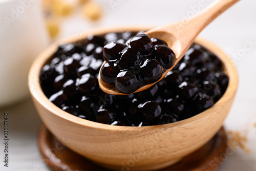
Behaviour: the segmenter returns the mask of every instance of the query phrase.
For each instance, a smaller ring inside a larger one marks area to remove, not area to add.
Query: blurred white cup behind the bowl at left
[[[28,71],[49,44],[41,1],[0,0],[0,107],[29,95]]]

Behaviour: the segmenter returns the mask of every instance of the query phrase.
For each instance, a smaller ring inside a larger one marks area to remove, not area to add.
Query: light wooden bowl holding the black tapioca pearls
[[[223,62],[229,76],[224,95],[208,110],[175,123],[156,126],[114,126],[97,123],[62,111],[48,100],[39,83],[41,68],[62,42],[77,42],[89,34],[148,30],[148,27],[108,28],[60,40],[42,52],[29,73],[29,89],[39,116],[48,130],[64,145],[102,167],[119,170],[156,170],[172,165],[196,151],[221,128],[236,94],[238,75],[232,61],[211,42],[195,42]]]

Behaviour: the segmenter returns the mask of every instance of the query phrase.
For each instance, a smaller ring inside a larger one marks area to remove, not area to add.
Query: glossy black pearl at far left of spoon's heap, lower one
[[[116,63],[106,62],[100,70],[100,78],[105,83],[115,83],[116,75],[119,73],[119,67]]]

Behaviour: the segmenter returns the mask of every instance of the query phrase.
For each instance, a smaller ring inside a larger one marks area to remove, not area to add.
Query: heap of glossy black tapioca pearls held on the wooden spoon
[[[106,63],[100,71],[101,81],[126,94],[158,81],[176,61],[165,41],[147,34],[138,34],[125,44],[109,42],[103,48],[103,57]]]

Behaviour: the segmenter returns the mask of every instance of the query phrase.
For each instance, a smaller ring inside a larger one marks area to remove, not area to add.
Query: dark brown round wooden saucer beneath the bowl
[[[45,127],[41,125],[38,133],[38,144],[42,159],[54,171],[105,171],[108,169],[92,164],[82,156],[63,146]],[[227,137],[224,128],[198,151],[186,156],[183,160],[159,171],[214,171],[221,164],[222,155],[227,149]],[[218,160],[216,160],[218,159]]]

